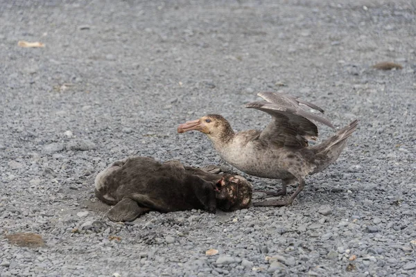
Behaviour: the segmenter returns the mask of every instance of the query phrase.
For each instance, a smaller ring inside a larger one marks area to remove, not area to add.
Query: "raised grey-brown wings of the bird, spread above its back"
[[[263,92],[258,95],[268,102],[251,102],[245,107],[259,109],[272,116],[272,122],[259,136],[262,141],[272,142],[280,147],[304,148],[308,145],[308,140],[315,141],[318,137],[318,127],[311,120],[335,129],[326,118],[300,107],[306,105],[323,113],[323,109],[316,105],[281,93]]]

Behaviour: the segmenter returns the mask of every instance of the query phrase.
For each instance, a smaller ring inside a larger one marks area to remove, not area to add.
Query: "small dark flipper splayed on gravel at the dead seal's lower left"
[[[150,208],[140,207],[130,198],[123,198],[108,212],[108,219],[114,222],[133,221],[140,215],[150,211]]]

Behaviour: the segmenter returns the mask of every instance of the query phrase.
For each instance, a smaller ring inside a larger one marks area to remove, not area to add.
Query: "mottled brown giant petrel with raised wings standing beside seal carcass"
[[[304,100],[280,93],[259,93],[259,96],[267,102],[252,102],[246,107],[260,109],[273,117],[263,131],[235,133],[223,116],[208,115],[180,125],[178,132],[191,129],[204,132],[227,163],[249,175],[283,180],[281,192],[270,193],[272,195],[285,195],[286,185],[298,181],[300,186],[287,201],[266,200],[257,206],[291,204],[303,189],[307,175],[324,170],[338,159],[345,148],[346,139],[356,129],[358,120],[319,145],[309,147],[308,140],[315,140],[318,136],[318,128],[311,120],[333,126],[329,120],[311,114],[299,105],[321,112],[323,110]]]

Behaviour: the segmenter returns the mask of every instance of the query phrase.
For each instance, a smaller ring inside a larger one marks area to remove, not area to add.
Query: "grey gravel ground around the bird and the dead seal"
[[[0,276],[415,276],[415,7],[2,1]],[[383,61],[404,68],[371,68]],[[177,125],[219,113],[263,127],[267,114],[242,107],[266,90],[314,102],[337,127],[361,120],[292,206],[107,220],[97,172],[133,155],[222,163]],[[20,232],[46,246],[5,237]]]

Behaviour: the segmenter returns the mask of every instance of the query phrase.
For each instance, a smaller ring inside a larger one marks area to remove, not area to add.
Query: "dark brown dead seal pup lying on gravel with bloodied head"
[[[235,174],[218,175],[183,166],[180,161],[159,163],[151,157],[115,161],[95,179],[95,194],[114,205],[107,216],[114,222],[133,221],[148,211],[162,213],[216,208],[235,211],[251,204],[252,185]]]

